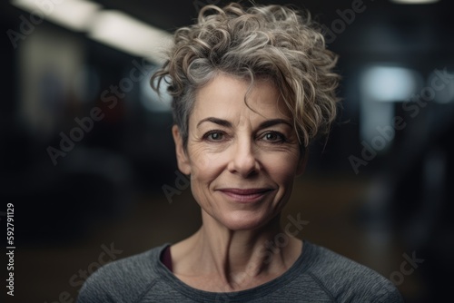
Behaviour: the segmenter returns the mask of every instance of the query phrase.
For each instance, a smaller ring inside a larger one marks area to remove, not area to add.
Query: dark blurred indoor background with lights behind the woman
[[[176,28],[228,2],[2,2],[0,220],[6,230],[14,203],[16,248],[7,302],[72,302],[105,262],[198,229],[171,99],[149,76]],[[407,302],[450,298],[452,1],[256,2],[309,9],[343,78],[338,122],[312,145],[282,220],[309,221],[298,237],[379,271]]]

